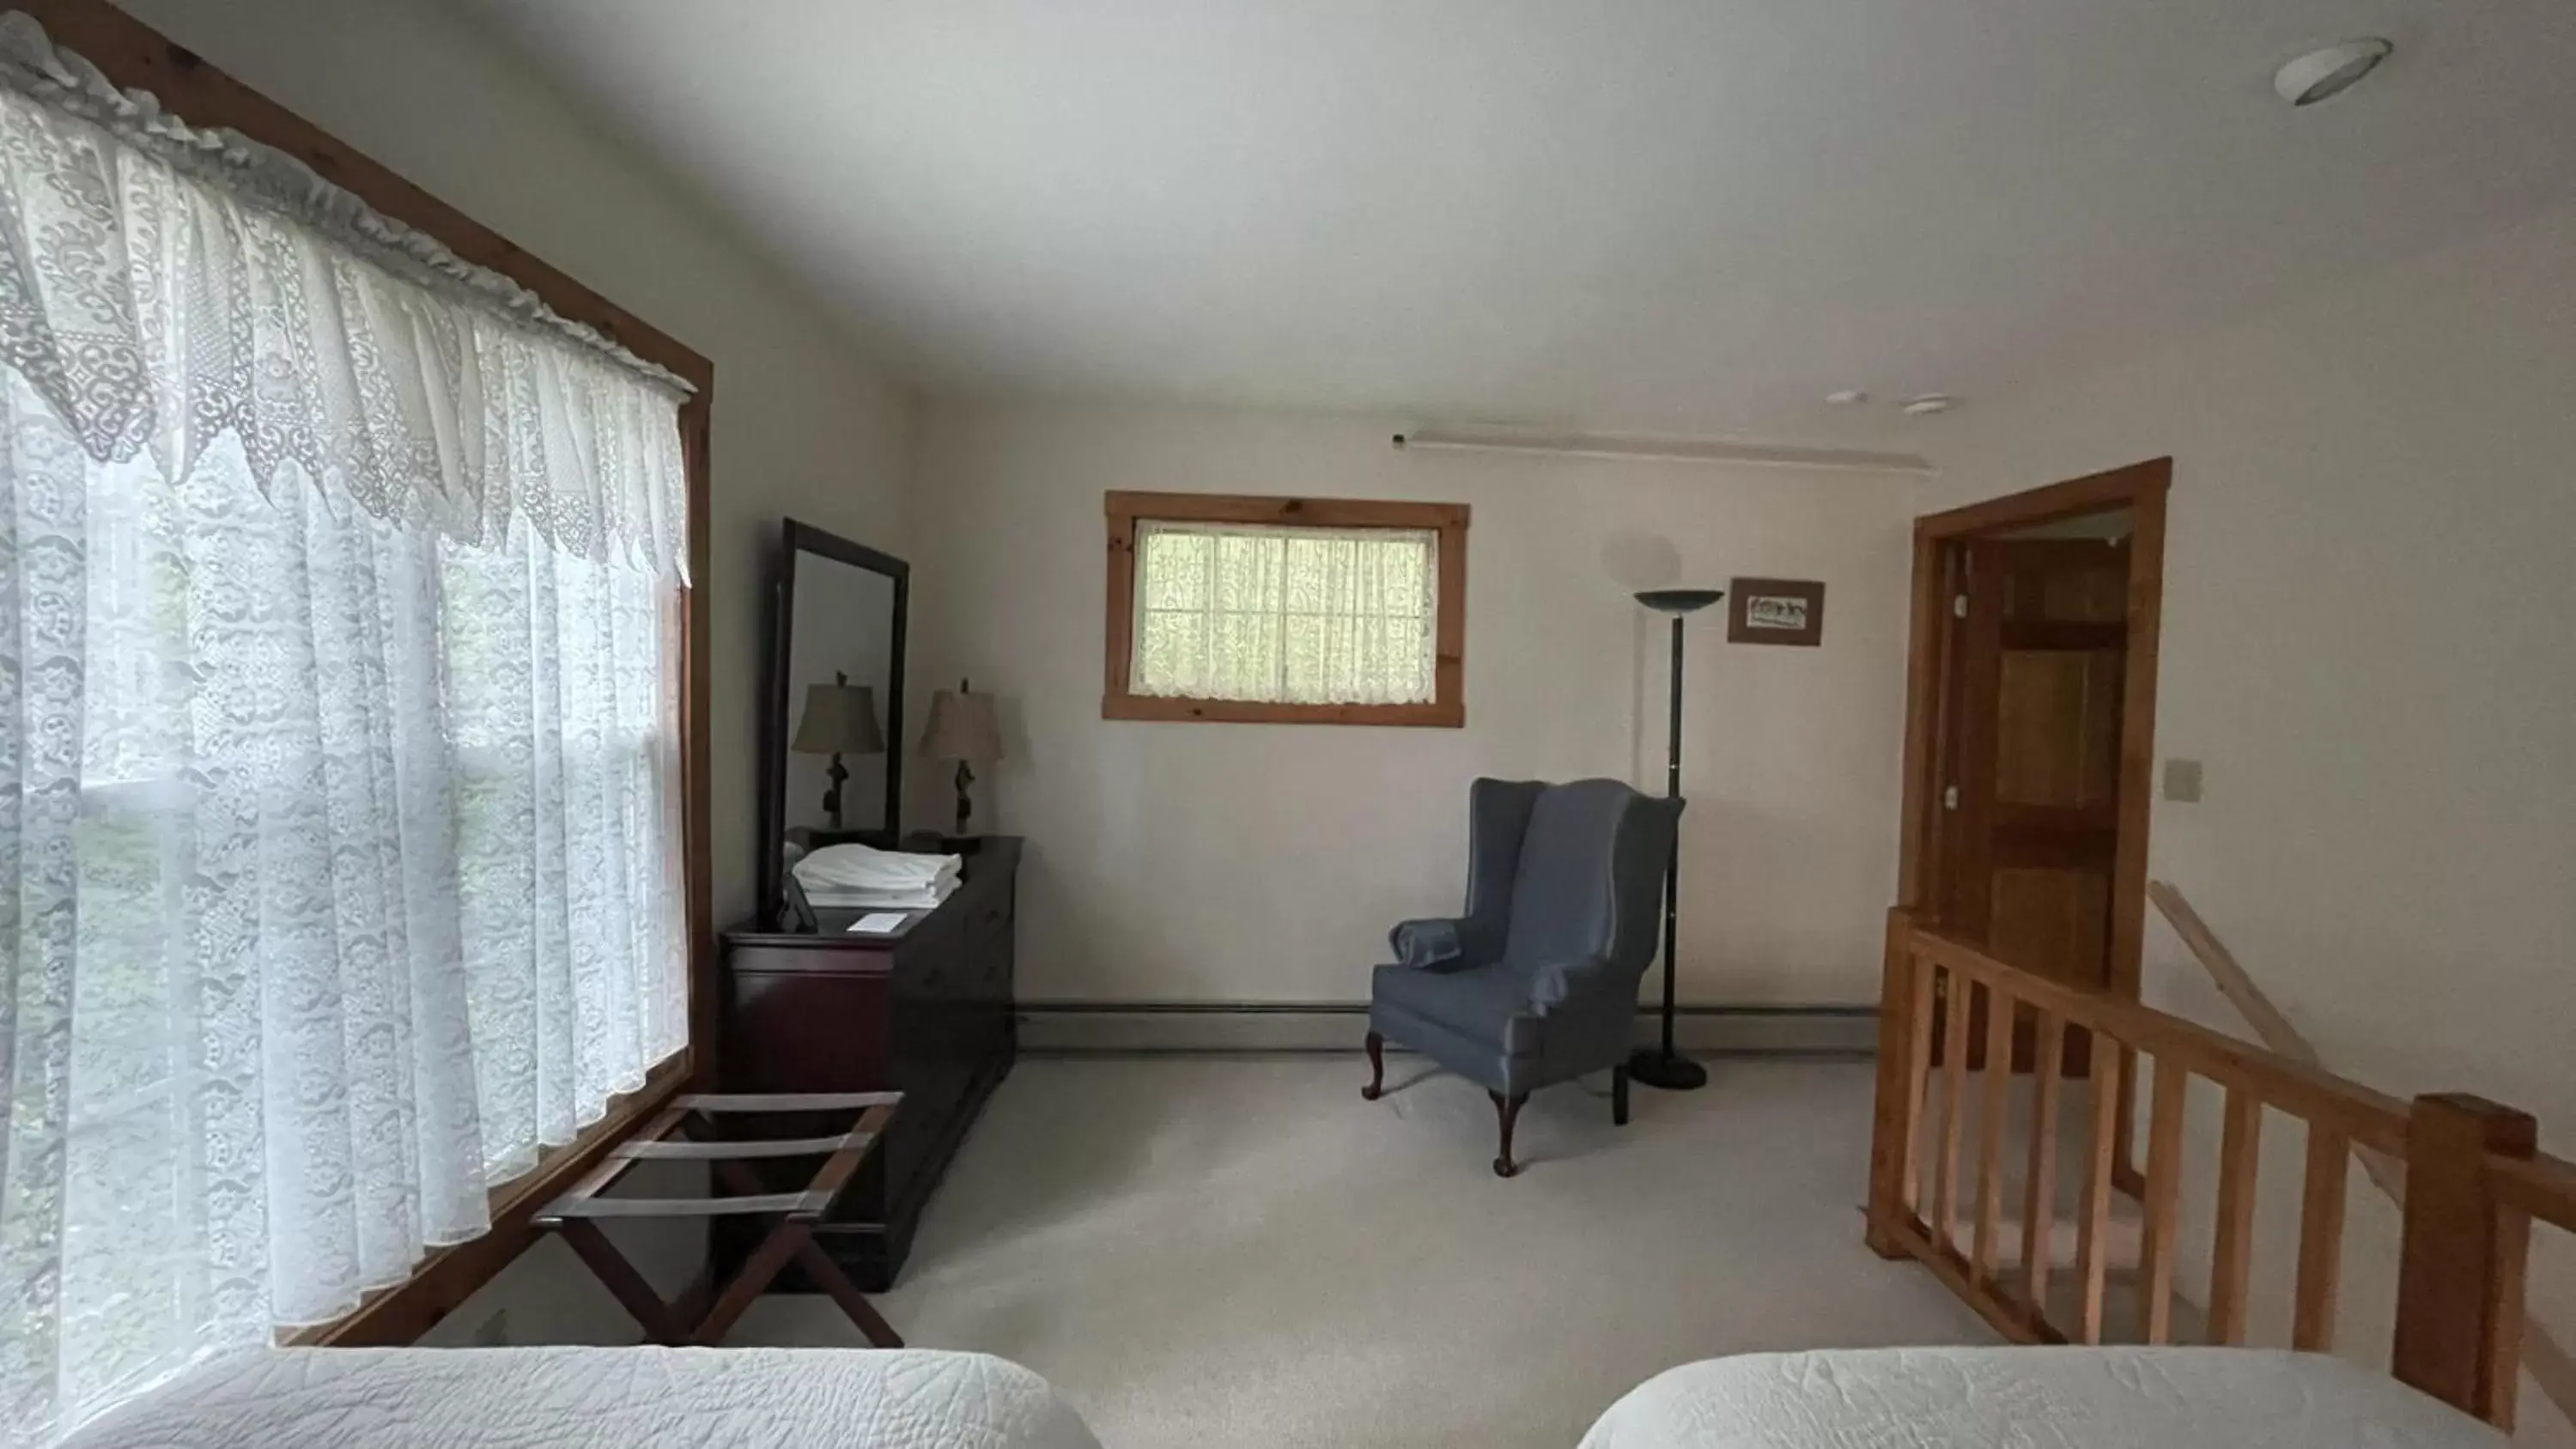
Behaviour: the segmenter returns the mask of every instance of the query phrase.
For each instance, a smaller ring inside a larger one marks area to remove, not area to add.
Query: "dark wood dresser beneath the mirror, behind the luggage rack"
[[[860,911],[817,911],[819,934],[724,932],[726,1091],[904,1094],[886,1140],[814,1233],[868,1292],[904,1269],[948,1161],[1010,1073],[1018,870],[1018,836],[981,836],[956,893],[902,932],[850,934]],[[811,1176],[811,1163],[781,1171]],[[716,1256],[750,1251],[757,1235],[716,1220]]]

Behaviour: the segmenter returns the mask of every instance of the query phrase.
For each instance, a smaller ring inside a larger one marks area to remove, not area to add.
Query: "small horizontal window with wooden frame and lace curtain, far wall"
[[[1113,721],[1461,726],[1463,504],[1108,494]]]

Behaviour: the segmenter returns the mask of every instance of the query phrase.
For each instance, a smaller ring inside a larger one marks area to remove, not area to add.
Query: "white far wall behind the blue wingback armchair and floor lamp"
[[[1628,595],[1826,582],[1821,649],[1692,620],[1685,1001],[1875,1001],[1896,880],[1914,481],[1396,453],[1381,420],[930,404],[927,679],[1002,700],[992,829],[1025,834],[1020,991],[1355,1001],[1386,929],[1450,914],[1476,775],[1664,785],[1662,618]],[[1100,718],[1108,489],[1471,504],[1466,728]],[[948,795],[909,785],[917,818]]]

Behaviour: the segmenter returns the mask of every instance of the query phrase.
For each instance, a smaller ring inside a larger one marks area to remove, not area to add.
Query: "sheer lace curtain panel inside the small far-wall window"
[[[1440,535],[1136,525],[1128,690],[1288,705],[1430,703]]]

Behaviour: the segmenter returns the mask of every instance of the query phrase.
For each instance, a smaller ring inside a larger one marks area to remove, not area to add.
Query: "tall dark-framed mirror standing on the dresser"
[[[912,566],[786,520],[770,582],[760,731],[760,924],[811,929],[788,867],[827,844],[891,847],[904,824],[904,613]]]

